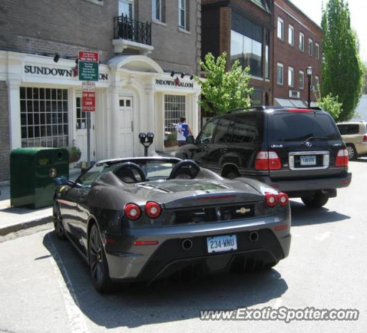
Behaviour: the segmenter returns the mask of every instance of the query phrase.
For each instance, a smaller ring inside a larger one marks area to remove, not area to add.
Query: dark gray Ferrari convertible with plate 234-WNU
[[[173,273],[269,268],[287,257],[287,194],[229,180],[191,160],[98,162],[76,181],[56,178],[53,216],[89,264],[98,291]]]

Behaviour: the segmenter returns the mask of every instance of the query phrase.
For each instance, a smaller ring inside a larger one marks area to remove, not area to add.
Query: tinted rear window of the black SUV
[[[327,137],[341,139],[334,122],[326,114],[274,113],[269,120],[269,139],[271,142],[305,141],[308,137]]]

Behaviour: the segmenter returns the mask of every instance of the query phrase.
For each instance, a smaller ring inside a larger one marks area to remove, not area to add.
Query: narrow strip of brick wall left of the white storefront
[[[0,81],[0,181],[9,178],[10,129],[8,114],[8,87]]]

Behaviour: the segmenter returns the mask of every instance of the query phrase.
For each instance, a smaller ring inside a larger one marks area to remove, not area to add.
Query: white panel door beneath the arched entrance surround
[[[117,157],[133,157],[133,97],[119,97],[119,117],[117,121],[119,139],[117,141]]]

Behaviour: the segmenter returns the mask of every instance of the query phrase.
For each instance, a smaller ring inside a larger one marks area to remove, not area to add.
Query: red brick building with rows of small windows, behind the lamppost
[[[308,99],[307,67],[313,67],[311,89],[316,89],[321,83],[321,27],[289,0],[274,0],[273,19],[271,80],[274,104],[305,107]],[[311,101],[316,101],[313,92]]]

